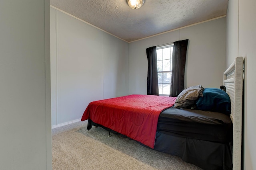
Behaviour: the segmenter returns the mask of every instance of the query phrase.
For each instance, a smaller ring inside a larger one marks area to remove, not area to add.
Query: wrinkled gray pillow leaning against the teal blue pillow
[[[198,97],[203,96],[203,90],[201,85],[185,88],[177,96],[174,107],[183,108],[196,104]]]

